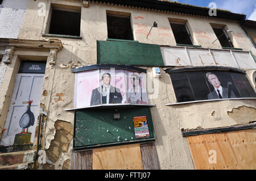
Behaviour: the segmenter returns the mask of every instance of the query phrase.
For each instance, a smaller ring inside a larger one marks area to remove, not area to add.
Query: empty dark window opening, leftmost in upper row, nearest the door
[[[50,34],[80,36],[81,11],[52,9]]]

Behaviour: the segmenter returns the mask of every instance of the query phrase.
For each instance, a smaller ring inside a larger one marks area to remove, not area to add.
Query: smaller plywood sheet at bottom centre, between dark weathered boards
[[[139,144],[93,150],[93,170],[142,170]]]

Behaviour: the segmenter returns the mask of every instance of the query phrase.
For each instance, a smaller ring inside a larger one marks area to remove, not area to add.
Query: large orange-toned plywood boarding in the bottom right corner
[[[256,129],[190,136],[187,140],[196,169],[256,169]]]

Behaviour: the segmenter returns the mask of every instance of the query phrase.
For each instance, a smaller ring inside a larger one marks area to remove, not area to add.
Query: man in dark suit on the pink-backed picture
[[[110,85],[111,75],[104,73],[101,77],[102,86],[92,91],[90,106],[101,104],[118,104],[122,103],[122,95],[118,88]],[[100,93],[101,92],[101,93]]]

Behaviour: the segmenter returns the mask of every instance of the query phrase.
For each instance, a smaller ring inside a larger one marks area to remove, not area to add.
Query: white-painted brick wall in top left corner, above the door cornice
[[[29,0],[3,0],[0,7],[0,38],[16,39]]]

